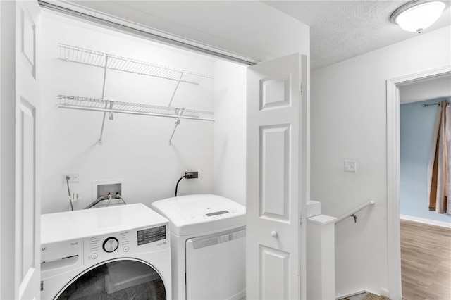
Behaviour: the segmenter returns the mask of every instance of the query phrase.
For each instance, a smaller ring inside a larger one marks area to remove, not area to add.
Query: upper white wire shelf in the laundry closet
[[[147,63],[145,61],[137,61],[132,58],[84,49],[78,46],[58,44],[58,47],[59,59],[63,61],[71,61],[74,63],[82,63],[100,68],[159,77],[178,82],[187,82],[193,85],[198,85],[203,80],[214,78],[212,75],[195,73],[177,68],[169,68],[163,65]]]

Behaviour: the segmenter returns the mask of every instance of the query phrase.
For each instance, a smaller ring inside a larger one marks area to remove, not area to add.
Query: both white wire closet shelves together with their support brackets
[[[132,115],[152,115],[157,117],[175,118],[175,127],[169,139],[169,145],[180,124],[180,119],[205,120],[214,121],[214,113],[210,111],[199,111],[188,108],[178,108],[171,106],[172,101],[177,92],[180,82],[186,82],[198,85],[206,79],[213,79],[212,75],[194,73],[187,70],[165,67],[154,63],[146,63],[137,61],[132,58],[125,58],[106,54],[99,51],[84,49],[78,46],[70,46],[66,44],[58,44],[59,59],[84,65],[91,65],[104,69],[103,85],[101,98],[88,98],[82,96],[59,95],[58,108],[70,108],[82,111],[100,111],[104,113],[102,120],[99,144],[102,144],[102,136],[104,132],[106,113],[109,114],[109,120],[113,120],[115,113],[126,113]],[[118,70],[122,72],[134,73],[139,75],[147,75],[159,77],[177,82],[168,106],[156,106],[151,104],[137,104],[131,102],[111,101],[104,99],[106,70]]]

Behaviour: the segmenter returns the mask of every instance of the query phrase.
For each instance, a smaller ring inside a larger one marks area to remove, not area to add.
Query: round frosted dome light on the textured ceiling
[[[414,0],[407,2],[390,15],[390,21],[400,25],[403,30],[418,32],[440,18],[447,6],[445,1],[440,0]]]

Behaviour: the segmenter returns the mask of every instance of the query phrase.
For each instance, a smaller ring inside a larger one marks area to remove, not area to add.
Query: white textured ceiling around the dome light
[[[406,2],[409,1],[264,1],[310,26],[312,69],[418,35],[390,23],[391,13]],[[448,25],[451,25],[450,6],[422,34]]]

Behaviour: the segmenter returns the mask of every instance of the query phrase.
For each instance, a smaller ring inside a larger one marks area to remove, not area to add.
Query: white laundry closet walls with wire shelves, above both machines
[[[74,210],[116,183],[128,203],[150,205],[173,196],[185,171],[199,177],[178,195],[214,193],[215,151],[233,147],[244,201],[245,65],[47,11],[41,37],[42,213],[71,209],[65,175],[76,175]],[[215,130],[217,113],[242,127],[235,142]]]

